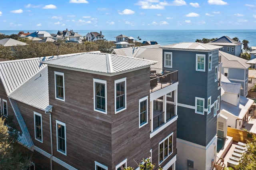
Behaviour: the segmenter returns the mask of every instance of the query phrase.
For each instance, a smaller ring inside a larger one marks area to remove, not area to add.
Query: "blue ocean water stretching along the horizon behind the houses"
[[[11,35],[18,34],[18,32],[35,32],[39,30],[0,30],[2,34]],[[46,31],[50,34],[57,34],[58,30],[40,30]],[[160,45],[169,45],[179,42],[195,42],[196,39],[203,38],[220,38],[228,36],[230,38],[238,37],[242,42],[248,40],[249,47],[256,46],[256,30],[74,30],[82,36],[86,36],[88,32],[98,32],[105,36],[108,41],[115,41],[116,36],[123,34],[125,36],[133,37],[138,42],[156,41]],[[138,40],[140,37],[141,40]]]

